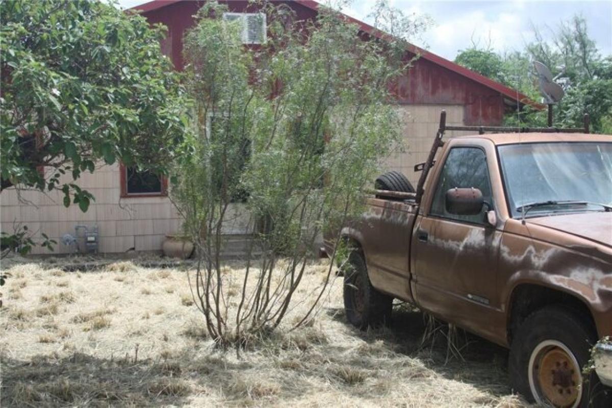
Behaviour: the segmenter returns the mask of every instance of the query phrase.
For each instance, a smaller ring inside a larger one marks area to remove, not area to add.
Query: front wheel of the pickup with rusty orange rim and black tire
[[[573,308],[552,305],[535,311],[520,325],[510,347],[508,371],[513,389],[539,404],[610,407],[610,390],[606,391],[597,374],[592,372],[587,378],[581,374],[596,341],[588,316]],[[573,369],[575,365],[578,370]]]

